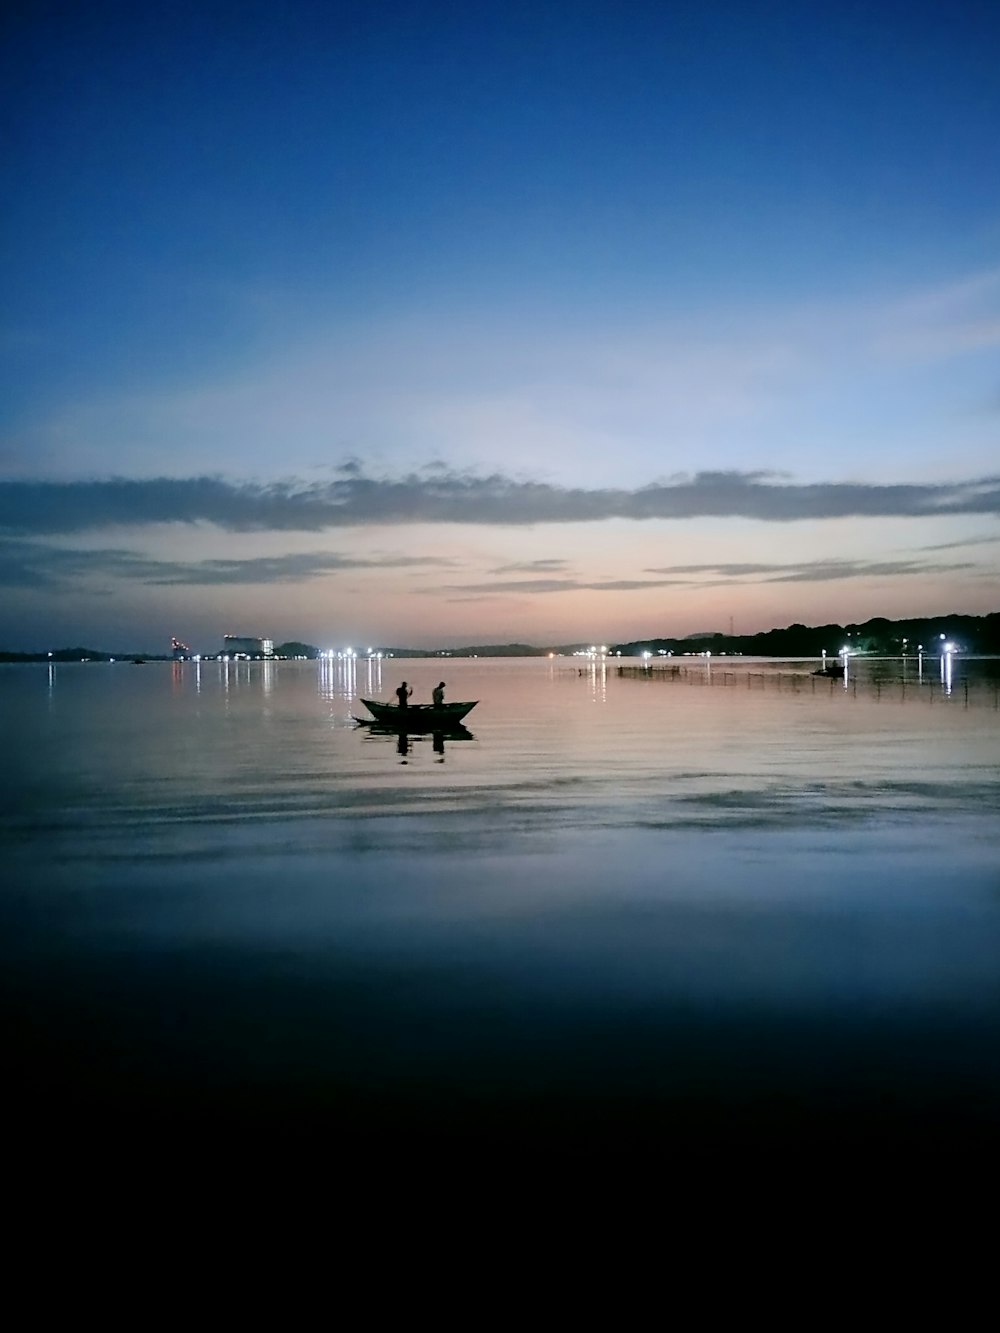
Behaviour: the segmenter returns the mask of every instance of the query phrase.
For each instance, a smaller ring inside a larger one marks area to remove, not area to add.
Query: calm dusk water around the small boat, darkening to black
[[[987,1141],[999,664],[812,665],[3,668],[13,1105],[380,1150]],[[479,700],[471,736],[359,728],[403,674]]]

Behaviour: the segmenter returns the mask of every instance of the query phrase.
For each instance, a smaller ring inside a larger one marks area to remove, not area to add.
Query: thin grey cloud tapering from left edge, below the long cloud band
[[[301,583],[357,569],[453,568],[436,556],[372,556],[356,559],[311,551],[247,560],[155,560],[131,551],[64,551],[23,539],[0,539],[0,585],[53,588],[76,579],[127,579],[151,585]]]

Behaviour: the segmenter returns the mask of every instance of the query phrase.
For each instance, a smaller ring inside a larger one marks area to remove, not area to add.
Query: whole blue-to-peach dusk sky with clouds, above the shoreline
[[[1000,611],[995,3],[0,21],[0,649]]]

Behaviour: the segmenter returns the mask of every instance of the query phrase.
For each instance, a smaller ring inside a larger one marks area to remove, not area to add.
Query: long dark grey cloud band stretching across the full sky
[[[0,531],[23,535],[172,523],[207,523],[229,532],[323,532],[404,524],[521,527],[699,517],[793,523],[944,515],[1000,515],[1000,476],[920,485],[797,485],[763,472],[699,472],[635,489],[585,489],[447,469],[368,476],[352,465],[321,483],[221,477],[0,483]]]

